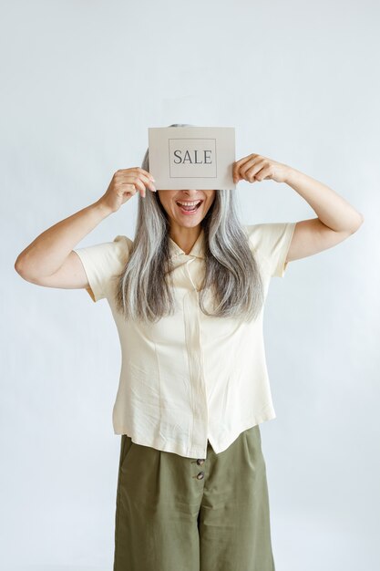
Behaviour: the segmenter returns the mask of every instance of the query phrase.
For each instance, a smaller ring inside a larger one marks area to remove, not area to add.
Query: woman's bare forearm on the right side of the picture
[[[285,181],[310,204],[318,218],[336,232],[355,231],[363,223],[363,215],[342,196],[322,182],[289,167]]]

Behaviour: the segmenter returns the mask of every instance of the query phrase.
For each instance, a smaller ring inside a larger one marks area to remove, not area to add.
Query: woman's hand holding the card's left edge
[[[146,188],[156,192],[153,177],[141,167],[119,169],[115,172],[105,194],[98,200],[111,213],[116,213],[136,192],[145,197]]]

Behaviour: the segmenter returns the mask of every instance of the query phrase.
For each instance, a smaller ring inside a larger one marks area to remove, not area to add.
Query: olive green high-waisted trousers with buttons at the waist
[[[121,436],[114,571],[274,571],[259,425],[186,458]]]

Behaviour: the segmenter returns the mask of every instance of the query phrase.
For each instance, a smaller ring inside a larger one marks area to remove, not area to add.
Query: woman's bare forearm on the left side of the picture
[[[75,246],[110,213],[103,203],[94,202],[54,224],[17,256],[15,270],[20,275],[53,275]]]

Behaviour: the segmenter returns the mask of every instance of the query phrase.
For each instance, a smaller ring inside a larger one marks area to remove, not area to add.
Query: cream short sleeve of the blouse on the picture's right
[[[283,277],[296,222],[245,226],[253,252],[259,254],[271,276]]]

